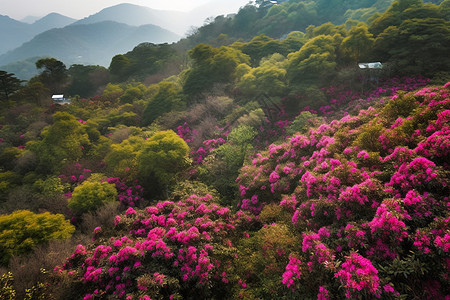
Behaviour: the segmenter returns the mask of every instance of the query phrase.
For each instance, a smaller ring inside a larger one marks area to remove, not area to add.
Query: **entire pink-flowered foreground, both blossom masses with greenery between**
[[[85,299],[445,299],[450,83],[387,100],[256,154],[236,213],[129,208],[60,273]]]

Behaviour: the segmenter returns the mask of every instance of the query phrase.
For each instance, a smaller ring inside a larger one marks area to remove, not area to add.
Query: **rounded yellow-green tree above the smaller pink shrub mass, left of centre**
[[[167,197],[175,176],[190,165],[188,154],[189,146],[175,132],[158,131],[138,155],[140,182],[149,187],[152,186],[151,181],[155,180],[163,196]]]

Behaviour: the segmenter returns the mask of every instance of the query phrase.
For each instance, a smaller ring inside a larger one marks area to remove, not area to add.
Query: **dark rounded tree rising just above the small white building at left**
[[[66,65],[56,58],[41,58],[36,61],[36,68],[42,69],[37,76],[52,93],[62,93],[68,83]]]

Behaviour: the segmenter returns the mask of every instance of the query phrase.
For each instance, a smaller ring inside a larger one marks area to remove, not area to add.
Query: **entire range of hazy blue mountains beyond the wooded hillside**
[[[116,54],[142,42],[175,42],[206,18],[237,12],[241,4],[242,0],[211,0],[190,12],[178,12],[124,3],[81,20],[51,13],[32,24],[0,15],[0,69],[13,72],[21,61],[29,65],[32,57],[55,57],[67,66],[109,66]]]

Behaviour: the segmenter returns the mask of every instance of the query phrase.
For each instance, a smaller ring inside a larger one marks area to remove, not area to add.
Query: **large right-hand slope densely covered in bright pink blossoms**
[[[311,129],[255,155],[239,203],[292,212],[298,296],[449,295],[450,83]]]

